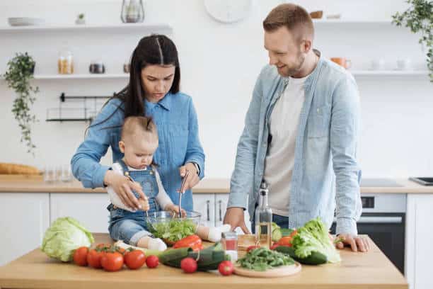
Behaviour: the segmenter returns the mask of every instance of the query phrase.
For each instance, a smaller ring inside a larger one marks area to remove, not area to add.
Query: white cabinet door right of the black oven
[[[432,194],[408,194],[405,275],[411,289],[433,288],[432,208]]]

